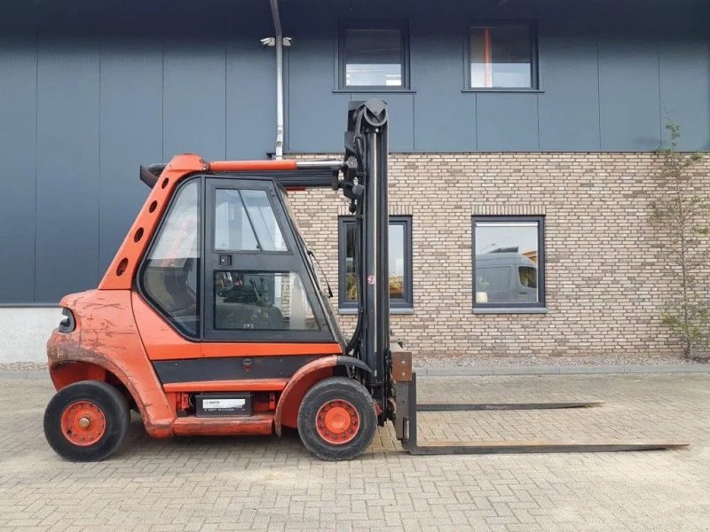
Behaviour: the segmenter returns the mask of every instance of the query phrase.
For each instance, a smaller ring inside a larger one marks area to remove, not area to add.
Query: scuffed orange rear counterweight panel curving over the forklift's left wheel
[[[79,373],[71,375],[73,363],[105,368],[136,401],[146,431],[156,437],[169,436],[175,410],[146,356],[130,311],[130,292],[90,290],[69,295],[60,304],[72,309],[76,328],[68,334],[55,330],[47,342],[54,386],[59,390],[86,378],[84,364],[76,364]]]

